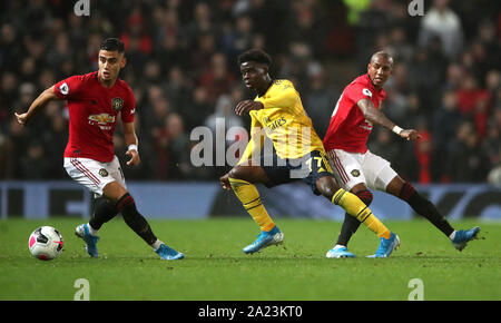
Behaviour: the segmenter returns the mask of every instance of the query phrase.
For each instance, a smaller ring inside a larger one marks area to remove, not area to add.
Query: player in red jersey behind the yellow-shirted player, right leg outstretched
[[[418,214],[428,218],[448,236],[459,251],[473,239],[480,228],[454,231],[436,207],[421,196],[414,187],[402,179],[390,163],[367,150],[366,143],[373,125],[383,126],[407,140],[418,140],[421,135],[414,129],[402,129],[380,110],[385,98],[383,85],[392,75],[393,58],[384,51],[375,52],[367,65],[367,74],[357,77],[344,88],[331,117],[324,137],[324,147],[333,163],[340,185],[370,205],[379,189],[405,200]],[[351,236],[360,226],[358,221],[345,216],[336,245],[327,257],[354,257],[347,251]]]

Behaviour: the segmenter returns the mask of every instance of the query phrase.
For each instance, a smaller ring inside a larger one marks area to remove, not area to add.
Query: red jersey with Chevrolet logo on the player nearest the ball
[[[65,157],[111,161],[118,114],[122,123],[134,121],[136,102],[127,82],[117,79],[108,89],[98,78],[95,71],[69,77],[55,86],[56,95],[68,101],[69,139]]]

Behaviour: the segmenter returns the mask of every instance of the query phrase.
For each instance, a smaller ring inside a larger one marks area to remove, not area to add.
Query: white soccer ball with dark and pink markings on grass
[[[62,236],[51,226],[41,226],[33,231],[28,239],[30,253],[42,261],[57,258],[62,252]]]

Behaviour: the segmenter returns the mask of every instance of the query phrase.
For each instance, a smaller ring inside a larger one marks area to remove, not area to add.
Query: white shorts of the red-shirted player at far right
[[[361,154],[332,149],[327,155],[337,183],[346,190],[361,183],[372,189],[386,190],[390,182],[397,176],[390,161],[369,150]]]

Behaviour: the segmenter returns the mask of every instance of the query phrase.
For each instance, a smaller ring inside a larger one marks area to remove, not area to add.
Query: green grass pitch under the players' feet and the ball
[[[183,261],[160,261],[121,218],[99,232],[99,257],[90,258],[73,235],[79,218],[0,221],[0,300],[73,300],[78,278],[89,282],[92,300],[178,301],[405,301],[422,281],[432,300],[501,300],[501,224],[462,221],[456,228],[480,225],[479,239],[463,252],[426,221],[385,224],[401,237],[401,247],[385,260],[365,255],[377,239],[361,226],[350,249],[357,257],[328,260],[341,223],[276,218],[283,246],[245,255],[242,248],[258,234],[250,218],[203,221],[150,219],[157,236],[183,252]],[[61,256],[33,258],[28,237],[40,225],[58,228]]]

